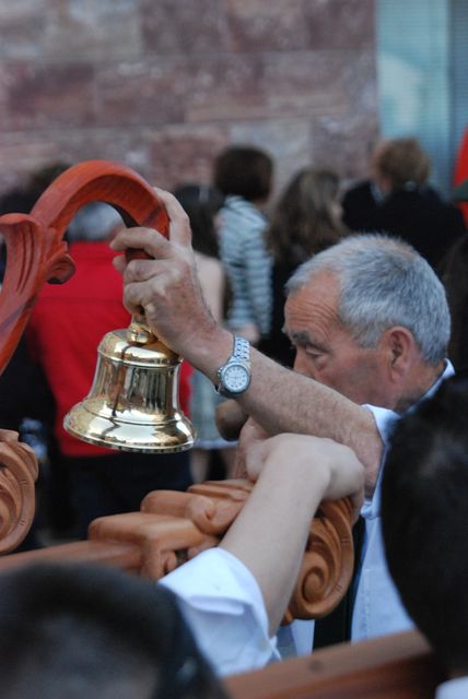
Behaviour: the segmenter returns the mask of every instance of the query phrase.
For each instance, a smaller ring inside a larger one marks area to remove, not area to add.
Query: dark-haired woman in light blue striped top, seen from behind
[[[265,250],[262,206],[272,186],[271,157],[251,146],[232,146],[214,163],[214,186],[224,194],[220,212],[221,260],[231,283],[227,325],[251,343],[270,327],[271,260]]]

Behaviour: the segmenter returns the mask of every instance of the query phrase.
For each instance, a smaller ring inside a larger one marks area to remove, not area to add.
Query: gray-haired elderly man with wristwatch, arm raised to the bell
[[[113,242],[116,250],[144,248],[154,258],[116,260],[127,308],[142,307],[159,336],[269,434],[331,437],[354,450],[365,467],[367,500],[352,639],[408,628],[382,550],[379,475],[398,414],[452,372],[444,359],[449,315],[441,283],[412,248],[383,236],[348,238],[317,254],[289,283],[285,328],[297,354],[292,372],[245,341],[235,339],[233,346],[232,334],[213,321],[197,281],[187,216],[174,198],[157,193],[171,239],[133,228]]]

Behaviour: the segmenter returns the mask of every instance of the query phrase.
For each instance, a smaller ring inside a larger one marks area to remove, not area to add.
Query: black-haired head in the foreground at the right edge
[[[468,377],[397,422],[382,486],[390,574],[448,670],[468,672]]]

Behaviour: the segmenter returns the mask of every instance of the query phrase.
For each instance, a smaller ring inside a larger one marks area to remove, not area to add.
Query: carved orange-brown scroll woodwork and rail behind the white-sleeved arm
[[[3,557],[0,571],[46,559],[92,560],[159,580],[201,550],[217,546],[253,487],[241,479],[207,482],[187,493],[155,490],[144,498],[140,512],[94,520],[87,542]],[[302,570],[283,620],[317,618],[331,612],[351,573],[350,502],[323,503],[311,523]]]

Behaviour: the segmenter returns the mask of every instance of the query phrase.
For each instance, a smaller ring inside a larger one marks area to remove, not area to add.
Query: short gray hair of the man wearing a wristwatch
[[[445,289],[430,264],[408,244],[381,234],[343,238],[304,262],[286,283],[288,295],[319,272],[340,284],[338,313],[362,347],[375,347],[394,325],[410,330],[424,362],[446,356],[451,316]]]

